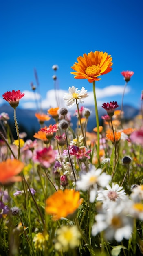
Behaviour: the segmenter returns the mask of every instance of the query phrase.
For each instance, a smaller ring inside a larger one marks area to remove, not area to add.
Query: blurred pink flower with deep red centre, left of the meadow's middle
[[[51,146],[48,148],[44,148],[42,150],[38,150],[36,155],[33,157],[35,162],[39,162],[42,167],[48,168],[55,161],[56,152],[52,149]]]

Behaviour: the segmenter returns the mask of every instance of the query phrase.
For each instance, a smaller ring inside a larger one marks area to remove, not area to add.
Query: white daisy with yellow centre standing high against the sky
[[[63,97],[68,108],[71,108],[74,104],[83,103],[83,99],[88,97],[87,90],[85,90],[84,87],[82,87],[81,90],[78,90],[78,88],[72,86],[69,87],[68,91],[69,93],[65,93]]]

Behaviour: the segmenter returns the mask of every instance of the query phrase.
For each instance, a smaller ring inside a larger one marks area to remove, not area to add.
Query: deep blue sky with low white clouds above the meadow
[[[143,2],[140,0],[6,0],[0,3],[0,104],[2,94],[21,90],[22,108],[34,108],[30,83],[39,77],[43,108],[55,107],[54,74],[57,64],[58,97],[74,85],[88,90],[92,102],[92,83],[74,79],[71,66],[78,56],[103,51],[113,58],[112,71],[96,82],[98,105],[117,101],[121,104],[123,70],[132,70],[124,103],[141,106],[143,90]],[[37,97],[39,95],[37,94]]]

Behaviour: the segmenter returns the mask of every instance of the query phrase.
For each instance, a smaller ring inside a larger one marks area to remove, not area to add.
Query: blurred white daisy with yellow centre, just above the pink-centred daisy
[[[90,202],[94,202],[99,187],[105,187],[111,180],[111,176],[102,173],[102,169],[95,169],[91,166],[88,173],[81,173],[81,179],[77,180],[76,186],[78,190],[86,191],[90,188]]]

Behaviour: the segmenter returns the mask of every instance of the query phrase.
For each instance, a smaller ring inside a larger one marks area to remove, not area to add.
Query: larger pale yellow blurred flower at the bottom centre
[[[81,234],[76,226],[63,226],[57,230],[57,242],[55,243],[56,250],[68,251],[79,246]]]

